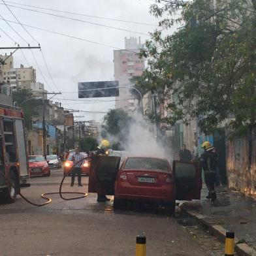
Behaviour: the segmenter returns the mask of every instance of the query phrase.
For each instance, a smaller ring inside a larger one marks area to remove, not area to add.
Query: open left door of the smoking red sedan
[[[106,195],[114,195],[116,175],[121,157],[93,155],[89,169],[88,192],[97,193],[98,187],[104,186]]]

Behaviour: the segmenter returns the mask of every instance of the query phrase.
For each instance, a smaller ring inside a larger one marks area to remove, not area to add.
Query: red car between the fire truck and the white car
[[[50,176],[50,167],[42,155],[29,155],[30,176]]]

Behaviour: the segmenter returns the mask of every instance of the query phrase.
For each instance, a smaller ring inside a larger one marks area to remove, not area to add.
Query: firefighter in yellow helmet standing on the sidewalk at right
[[[210,142],[208,141],[205,141],[202,144],[202,148],[204,148],[204,153],[202,153],[202,155],[200,156],[200,163],[202,169],[204,170],[204,180],[208,188],[208,196],[206,197],[206,199],[211,199],[212,201],[215,201],[217,195],[214,184],[216,182],[217,175],[218,155],[212,144],[210,144]]]

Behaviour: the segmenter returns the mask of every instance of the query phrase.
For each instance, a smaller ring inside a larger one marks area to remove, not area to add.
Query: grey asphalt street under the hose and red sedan
[[[31,187],[22,193],[44,202],[40,195],[57,192],[62,175],[59,169],[52,170],[49,178],[31,178]],[[83,187],[77,180],[70,187],[70,179],[65,180],[64,191],[88,191],[88,177],[82,177]],[[66,201],[53,195],[51,204],[35,207],[18,197],[14,204],[0,204],[0,255],[135,255],[135,238],[142,233],[147,238],[147,256],[223,255],[223,245],[215,238],[198,227],[195,232],[194,227],[181,225],[187,223],[184,217],[147,209],[116,212],[112,200],[98,203],[96,198],[89,194]]]

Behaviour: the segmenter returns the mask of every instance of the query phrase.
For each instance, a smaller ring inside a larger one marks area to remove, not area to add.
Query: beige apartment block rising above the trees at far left
[[[36,82],[36,70],[33,67],[24,67],[10,69],[10,85],[15,89],[31,89],[31,83]]]

